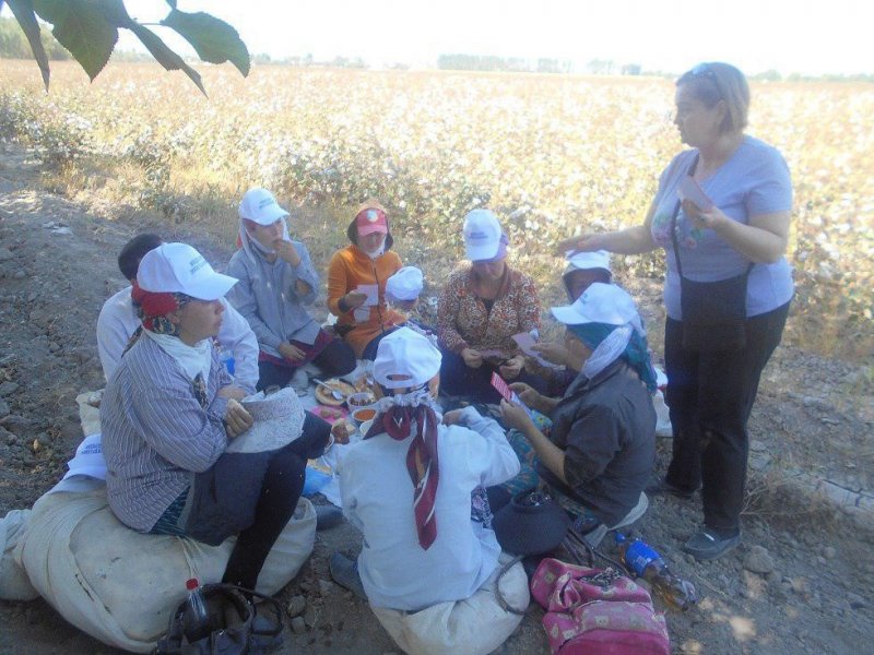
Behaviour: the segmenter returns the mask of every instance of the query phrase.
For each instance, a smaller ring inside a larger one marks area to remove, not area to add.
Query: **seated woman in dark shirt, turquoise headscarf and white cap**
[[[552,431],[543,434],[519,405],[503,402],[501,414],[525,439],[515,443],[523,471],[533,467],[580,520],[580,532],[598,543],[607,528],[646,511],[643,489],[656,456],[656,372],[635,302],[619,287],[594,283],[552,312],[566,326],[565,345],[579,376],[560,398],[511,385],[522,403],[552,418]]]

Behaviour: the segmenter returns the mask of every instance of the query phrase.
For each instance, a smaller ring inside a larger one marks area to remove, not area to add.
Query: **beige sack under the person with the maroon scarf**
[[[499,567],[510,557],[500,556]],[[501,609],[495,596],[498,571],[470,598],[440,603],[416,612],[371,607],[394,642],[410,655],[486,655],[500,646],[522,621]],[[513,608],[528,607],[528,576],[517,562],[501,579],[504,599]]]

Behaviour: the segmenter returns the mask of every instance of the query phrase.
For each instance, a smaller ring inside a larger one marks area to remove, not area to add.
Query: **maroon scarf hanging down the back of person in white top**
[[[416,519],[418,545],[427,550],[437,538],[437,516],[434,503],[437,499],[437,484],[440,479],[437,457],[437,415],[427,405],[416,407],[393,405],[374,420],[365,434],[369,439],[386,432],[395,441],[410,436],[413,422],[416,436],[406,451],[406,471],[413,483],[413,513]]]

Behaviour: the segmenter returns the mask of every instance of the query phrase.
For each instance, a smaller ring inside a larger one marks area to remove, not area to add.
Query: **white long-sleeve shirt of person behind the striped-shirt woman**
[[[107,380],[140,326],[130,294],[129,286],[118,291],[103,303],[97,318],[97,354]],[[222,298],[222,305],[225,311],[218,330],[218,344],[234,355],[234,381],[246,391],[255,392],[258,384],[258,340],[246,319],[227,300]]]

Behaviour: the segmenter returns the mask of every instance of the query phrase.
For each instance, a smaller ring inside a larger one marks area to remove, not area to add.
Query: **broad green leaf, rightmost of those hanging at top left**
[[[249,50],[237,31],[224,21],[203,12],[186,13],[174,9],[161,24],[178,32],[203,61],[229,61],[244,78],[249,74]]]

